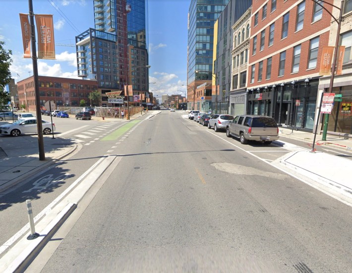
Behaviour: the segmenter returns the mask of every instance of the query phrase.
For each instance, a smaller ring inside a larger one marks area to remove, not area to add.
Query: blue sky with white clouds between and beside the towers
[[[187,13],[190,0],[148,0],[149,82],[153,94],[182,94],[187,81]],[[57,8],[55,8],[56,6]],[[133,8],[133,6],[132,6]],[[23,58],[19,13],[28,13],[28,0],[1,0],[0,41],[12,50],[12,77],[33,75],[32,59]],[[93,0],[33,0],[37,14],[53,14],[56,60],[38,60],[43,76],[77,78],[75,36],[94,28]],[[62,15],[64,14],[64,15]],[[30,73],[29,73],[30,72]]]

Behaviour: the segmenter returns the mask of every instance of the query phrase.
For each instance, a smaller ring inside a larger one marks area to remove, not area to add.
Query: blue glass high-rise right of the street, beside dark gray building
[[[211,81],[213,78],[214,23],[228,2],[229,0],[191,0],[189,5],[187,53],[188,109],[197,108],[194,108],[194,104],[197,103],[195,100],[197,86],[206,81]]]

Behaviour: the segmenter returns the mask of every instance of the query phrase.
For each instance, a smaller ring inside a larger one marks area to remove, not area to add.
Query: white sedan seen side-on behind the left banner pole
[[[55,131],[55,124],[42,120],[43,134],[49,135],[52,128]],[[3,124],[0,126],[1,135],[19,136],[20,134],[36,134],[37,133],[37,118],[20,119],[13,123]]]

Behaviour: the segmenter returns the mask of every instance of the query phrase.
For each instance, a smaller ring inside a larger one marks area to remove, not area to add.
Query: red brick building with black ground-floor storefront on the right
[[[313,129],[322,47],[332,23],[324,8],[313,0],[253,0],[247,113]]]

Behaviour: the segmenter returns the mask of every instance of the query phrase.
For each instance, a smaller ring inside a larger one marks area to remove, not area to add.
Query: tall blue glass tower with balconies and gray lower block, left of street
[[[78,76],[96,79],[105,93],[132,85],[148,92],[148,0],[94,0],[95,27],[76,36]],[[147,97],[147,96],[146,96]]]

